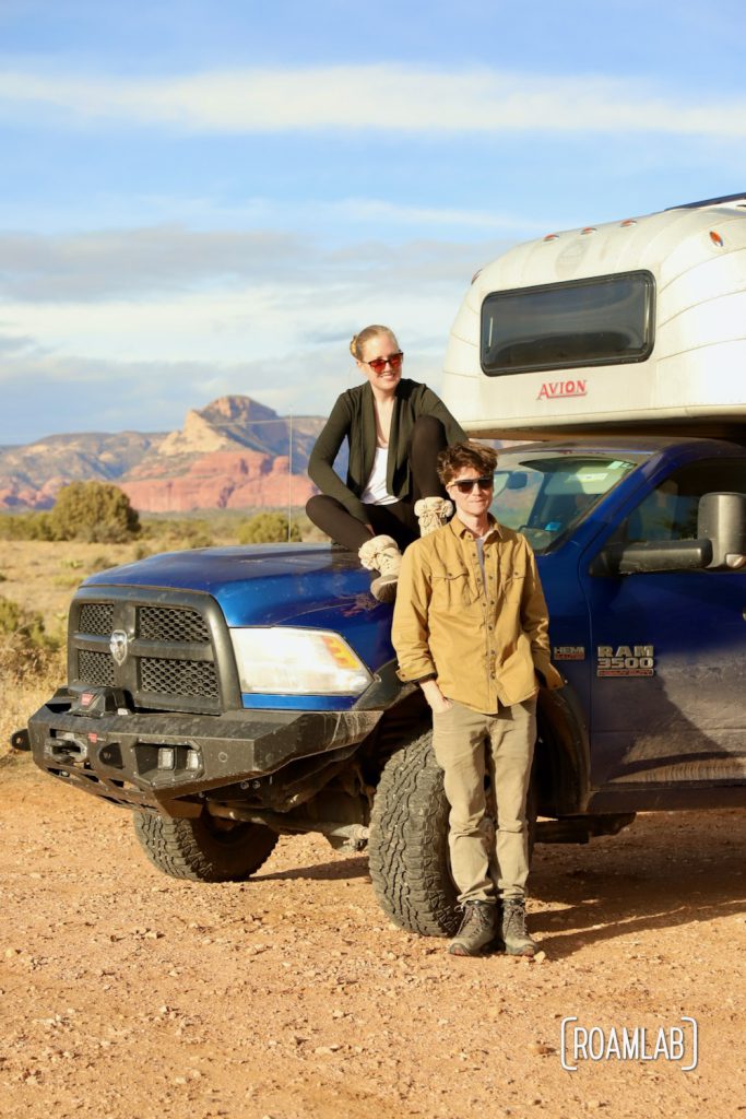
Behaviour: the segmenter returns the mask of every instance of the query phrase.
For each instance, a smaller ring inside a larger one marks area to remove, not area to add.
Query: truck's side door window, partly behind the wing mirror
[[[746,493],[746,459],[711,459],[682,467],[649,493],[622,526],[620,539],[697,539],[697,513],[703,493]]]

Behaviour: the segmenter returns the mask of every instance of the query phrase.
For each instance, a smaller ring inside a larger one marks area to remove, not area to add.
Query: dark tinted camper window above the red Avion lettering
[[[497,377],[644,361],[654,293],[645,271],[492,292],[482,304],[482,369]]]

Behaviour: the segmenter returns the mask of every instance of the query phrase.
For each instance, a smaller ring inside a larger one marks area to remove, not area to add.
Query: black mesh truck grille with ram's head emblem
[[[139,709],[217,714],[240,706],[217,603],[188,591],[168,595],[163,603],[162,591],[83,587],[69,617],[70,687],[120,688]]]

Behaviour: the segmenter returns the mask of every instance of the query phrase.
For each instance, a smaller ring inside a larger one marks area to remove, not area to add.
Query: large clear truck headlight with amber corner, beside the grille
[[[327,630],[232,629],[242,692],[358,695],[372,683],[339,633]]]

